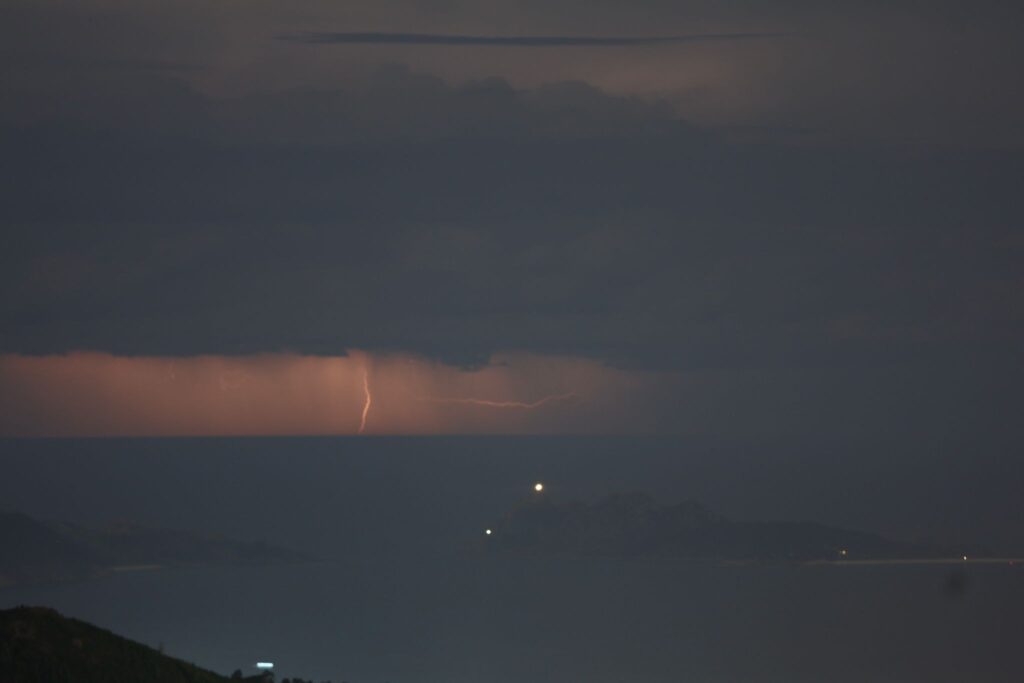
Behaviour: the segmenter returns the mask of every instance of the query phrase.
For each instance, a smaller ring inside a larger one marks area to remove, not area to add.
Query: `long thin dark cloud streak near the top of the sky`
[[[280,40],[310,45],[479,45],[494,47],[644,47],[675,43],[777,38],[772,33],[709,33],[690,36],[457,36],[425,33],[332,33],[303,31]]]

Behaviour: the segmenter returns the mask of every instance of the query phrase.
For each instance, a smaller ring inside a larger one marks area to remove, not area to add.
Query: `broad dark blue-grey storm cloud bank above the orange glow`
[[[400,69],[334,92],[150,90],[153,118],[119,97],[6,137],[7,350],[728,367],[1020,331],[995,302],[1018,283],[1012,155],[738,144],[583,85]]]

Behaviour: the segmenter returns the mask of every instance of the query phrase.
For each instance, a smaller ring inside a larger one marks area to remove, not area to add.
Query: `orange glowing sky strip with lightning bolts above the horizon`
[[[644,377],[501,354],[463,370],[400,354],[0,355],[0,436],[557,434],[642,431]]]

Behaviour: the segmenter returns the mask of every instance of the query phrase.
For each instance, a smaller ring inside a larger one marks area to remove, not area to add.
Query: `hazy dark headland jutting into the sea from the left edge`
[[[263,543],[131,524],[90,528],[0,512],[0,587],[74,581],[132,567],[268,564],[309,558]]]

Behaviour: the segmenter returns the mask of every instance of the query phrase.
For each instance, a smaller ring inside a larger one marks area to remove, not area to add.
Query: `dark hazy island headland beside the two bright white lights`
[[[967,552],[813,522],[736,521],[698,503],[659,505],[644,494],[596,503],[556,503],[538,496],[492,527],[486,543],[543,553],[724,561],[925,559]]]

